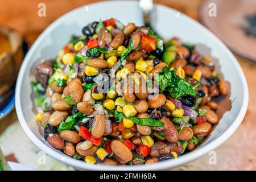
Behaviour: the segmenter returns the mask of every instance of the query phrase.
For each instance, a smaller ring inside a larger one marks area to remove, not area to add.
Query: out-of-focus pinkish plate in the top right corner
[[[215,8],[217,16],[210,16],[209,12],[211,14]],[[238,56],[256,62],[256,36],[247,35],[245,31],[249,26],[248,16],[256,16],[256,1],[207,0],[200,8],[200,21],[205,26]]]

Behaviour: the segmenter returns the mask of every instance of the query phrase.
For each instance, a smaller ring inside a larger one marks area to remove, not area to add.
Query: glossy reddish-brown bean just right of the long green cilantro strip
[[[179,139],[179,133],[177,132],[174,123],[172,123],[168,118],[162,118],[160,121],[164,122],[164,137],[169,142],[177,142]]]

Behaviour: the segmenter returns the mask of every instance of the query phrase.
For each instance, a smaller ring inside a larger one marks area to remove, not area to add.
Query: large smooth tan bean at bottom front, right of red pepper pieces
[[[118,158],[122,159],[125,163],[133,159],[133,154],[131,153],[130,149],[119,140],[112,140],[110,147],[114,154],[117,155]]]

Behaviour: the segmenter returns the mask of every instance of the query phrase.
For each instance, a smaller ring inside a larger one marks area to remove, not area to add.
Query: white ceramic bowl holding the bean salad
[[[213,56],[220,61],[221,72],[232,86],[230,100],[232,109],[224,114],[208,140],[195,151],[180,156],[177,160],[148,164],[144,166],[103,166],[88,165],[81,160],[55,150],[44,140],[35,125],[32,113],[30,76],[41,59],[52,59],[68,42],[72,34],[81,34],[81,29],[93,20],[118,18],[123,23],[135,22],[142,25],[142,15],[137,1],[109,1],[94,3],[75,9],[53,22],[36,40],[25,57],[16,84],[15,105],[20,125],[28,138],[41,150],[53,158],[78,169],[92,170],[155,170],[180,166],[200,158],[220,146],[230,137],[242,122],[248,104],[248,89],[242,69],[229,49],[215,36],[188,16],[162,5],[156,5],[156,31],[163,38],[178,36],[185,42],[204,44],[211,49]],[[29,124],[28,124],[29,123]]]

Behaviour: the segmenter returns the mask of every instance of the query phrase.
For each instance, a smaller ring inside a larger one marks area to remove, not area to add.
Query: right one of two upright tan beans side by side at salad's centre
[[[148,96],[146,80],[139,72],[135,72],[134,76],[136,76],[139,80],[139,85],[134,82],[134,93],[139,99],[145,100]]]

